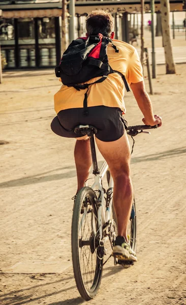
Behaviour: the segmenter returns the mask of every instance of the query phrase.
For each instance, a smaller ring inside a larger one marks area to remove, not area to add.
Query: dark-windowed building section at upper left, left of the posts
[[[59,63],[60,0],[0,0],[0,9],[0,42],[8,69]]]

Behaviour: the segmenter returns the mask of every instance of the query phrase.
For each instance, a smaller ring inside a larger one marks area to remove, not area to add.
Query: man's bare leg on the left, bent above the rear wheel
[[[86,137],[84,140],[78,139],[76,141],[74,157],[77,171],[78,192],[82,187],[84,187],[84,182],[88,179],[92,164],[89,138]]]

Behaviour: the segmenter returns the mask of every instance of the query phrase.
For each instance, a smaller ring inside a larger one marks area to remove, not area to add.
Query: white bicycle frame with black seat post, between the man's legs
[[[92,156],[92,164],[93,164],[93,174],[95,182],[91,186],[93,190],[98,191],[98,225],[99,225],[99,233],[100,233],[100,240],[102,240],[102,226],[106,225],[106,223],[110,220],[110,213],[112,208],[112,198],[109,202],[109,205],[106,206],[106,210],[104,211],[104,191],[102,187],[102,178],[104,177],[106,171],[108,170],[107,162],[105,161],[101,167],[101,170],[98,169],[98,162],[96,156],[96,147],[95,147],[95,139],[94,136],[90,136],[90,147],[91,147],[91,156]],[[109,180],[109,189],[113,189],[113,178],[110,176]]]

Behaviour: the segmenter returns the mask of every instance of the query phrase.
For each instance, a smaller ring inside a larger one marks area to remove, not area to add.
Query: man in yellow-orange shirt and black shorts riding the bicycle
[[[103,10],[92,11],[86,18],[87,37],[103,34],[112,39],[108,44],[107,55],[113,70],[125,76],[138,106],[144,115],[146,125],[162,125],[162,118],[153,114],[150,98],[146,93],[142,66],[136,49],[119,40],[114,40],[114,23],[111,14]],[[92,78],[92,83],[100,77]],[[84,90],[62,85],[54,96],[54,108],[57,116],[52,120],[52,131],[61,136],[76,138],[74,156],[77,170],[77,192],[84,186],[91,167],[89,138],[77,138],[76,125],[93,125],[98,129],[97,146],[106,160],[114,180],[113,204],[117,217],[118,236],[113,247],[113,255],[123,260],[137,261],[135,252],[130,247],[127,229],[133,202],[133,188],[130,177],[130,145],[125,131],[127,123],[122,114],[126,112],[123,97],[125,85],[120,74],[109,74],[107,79],[94,83],[87,90],[88,115],[83,115]]]

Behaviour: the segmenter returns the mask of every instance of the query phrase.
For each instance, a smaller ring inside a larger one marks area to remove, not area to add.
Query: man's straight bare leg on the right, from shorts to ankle
[[[128,241],[127,228],[129,224],[133,188],[130,178],[130,146],[125,133],[114,142],[102,142],[96,139],[98,148],[107,161],[114,180],[113,204],[116,211],[118,235]]]

